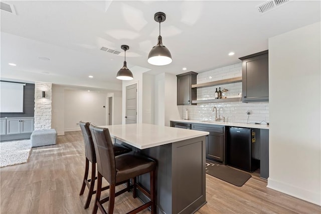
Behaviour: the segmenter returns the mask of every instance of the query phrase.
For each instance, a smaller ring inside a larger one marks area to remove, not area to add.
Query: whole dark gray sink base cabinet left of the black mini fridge
[[[206,136],[206,159],[226,164],[225,126],[192,124],[192,129],[210,132],[210,134]]]

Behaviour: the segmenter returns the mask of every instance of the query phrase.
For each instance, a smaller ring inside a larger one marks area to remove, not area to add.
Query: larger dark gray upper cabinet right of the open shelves
[[[239,59],[242,60],[243,102],[268,102],[268,50]]]

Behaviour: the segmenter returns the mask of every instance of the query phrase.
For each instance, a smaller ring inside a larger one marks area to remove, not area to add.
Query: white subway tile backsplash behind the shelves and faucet
[[[199,73],[197,75],[197,84],[212,82],[217,80],[229,79],[233,77],[242,76],[242,63],[217,68],[214,70]],[[228,89],[227,97],[237,96],[242,92],[242,83],[231,83],[212,87],[198,88],[197,99],[207,100],[214,99],[216,88],[219,90]],[[199,103],[197,105],[183,106],[183,119],[186,109],[189,111],[189,119],[192,120],[215,120],[215,112],[213,108],[217,108],[217,117],[225,117],[227,122],[241,122],[241,123],[265,123],[269,122],[269,103],[242,103],[238,102],[222,102],[220,103]],[[246,112],[250,111],[250,115]],[[264,122],[265,121],[265,122]]]

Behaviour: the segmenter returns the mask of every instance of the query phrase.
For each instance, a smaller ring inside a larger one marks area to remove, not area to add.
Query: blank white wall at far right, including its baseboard
[[[269,39],[268,187],[321,205],[320,23]]]

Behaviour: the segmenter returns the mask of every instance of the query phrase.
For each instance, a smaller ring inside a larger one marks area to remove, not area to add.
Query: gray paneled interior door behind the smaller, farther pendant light
[[[137,84],[126,87],[126,124],[137,123]]]

